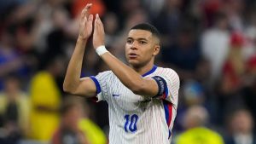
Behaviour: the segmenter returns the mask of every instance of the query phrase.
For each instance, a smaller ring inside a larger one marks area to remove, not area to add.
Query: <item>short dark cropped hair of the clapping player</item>
[[[148,23],[137,24],[136,26],[131,27],[130,30],[145,30],[151,32],[154,37],[160,39],[160,32],[157,30],[157,28]]]

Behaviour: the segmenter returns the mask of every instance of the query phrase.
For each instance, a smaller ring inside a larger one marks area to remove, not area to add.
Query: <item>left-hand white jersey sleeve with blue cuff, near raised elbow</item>
[[[111,72],[100,72],[96,76],[90,76],[90,79],[96,85],[96,98],[97,101],[107,101],[108,100],[108,82],[111,76]]]

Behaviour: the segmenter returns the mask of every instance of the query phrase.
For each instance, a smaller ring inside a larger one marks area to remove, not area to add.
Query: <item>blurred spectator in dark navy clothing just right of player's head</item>
[[[195,30],[184,24],[177,32],[177,43],[162,50],[162,60],[173,65],[181,79],[195,78],[195,70],[201,60],[201,49],[195,39]]]

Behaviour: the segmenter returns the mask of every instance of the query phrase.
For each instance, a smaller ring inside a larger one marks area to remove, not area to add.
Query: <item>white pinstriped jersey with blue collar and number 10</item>
[[[154,66],[144,78],[160,76],[167,89],[158,98],[135,95],[113,72],[91,77],[98,101],[108,102],[109,144],[170,144],[177,112],[179,78],[170,68]]]

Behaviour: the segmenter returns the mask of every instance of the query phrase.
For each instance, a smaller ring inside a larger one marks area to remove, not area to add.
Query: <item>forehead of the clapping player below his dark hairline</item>
[[[128,33],[128,37],[132,37],[134,39],[137,39],[137,38],[150,39],[152,38],[152,33],[145,30],[131,30]]]

